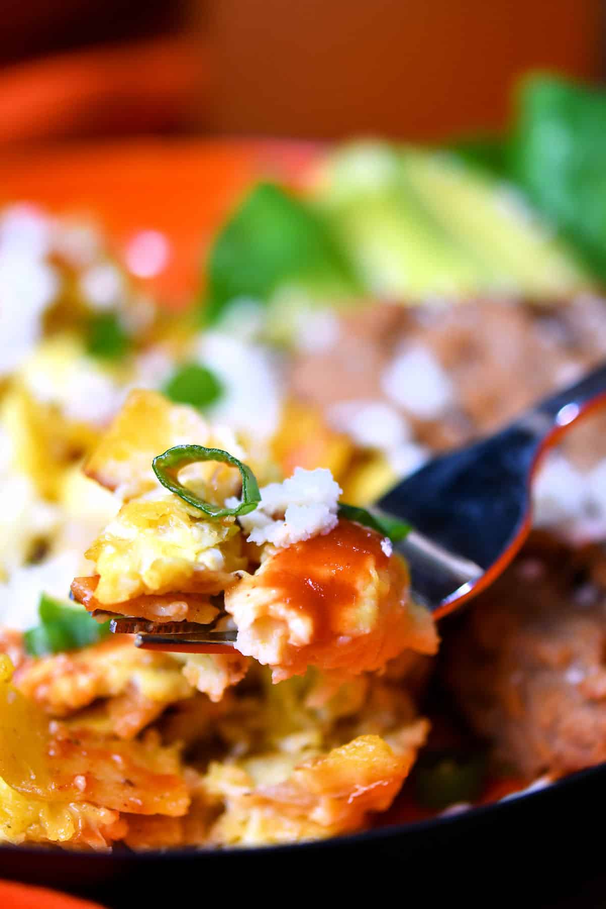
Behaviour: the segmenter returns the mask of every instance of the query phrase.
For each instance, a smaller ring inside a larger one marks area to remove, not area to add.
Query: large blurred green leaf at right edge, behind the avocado
[[[522,85],[512,175],[606,279],[606,93],[557,77]]]

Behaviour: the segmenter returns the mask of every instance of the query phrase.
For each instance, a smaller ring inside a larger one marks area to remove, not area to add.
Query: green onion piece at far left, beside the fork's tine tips
[[[47,594],[40,595],[38,614],[40,624],[24,634],[25,652],[31,656],[77,650],[109,633],[109,622],[95,622],[84,606],[62,603]]]

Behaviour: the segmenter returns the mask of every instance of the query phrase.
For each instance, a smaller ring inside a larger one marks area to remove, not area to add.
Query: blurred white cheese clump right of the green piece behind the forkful
[[[212,418],[253,438],[270,438],[280,423],[283,383],[269,351],[241,338],[208,332],[197,356],[224,389],[210,411]]]

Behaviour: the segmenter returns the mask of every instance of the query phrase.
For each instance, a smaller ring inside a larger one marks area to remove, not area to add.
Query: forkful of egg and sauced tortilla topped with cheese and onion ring
[[[164,422],[143,421],[135,445],[133,413],[146,408]],[[171,447],[186,412],[135,392],[92,455],[85,469],[92,462],[97,476],[119,473],[129,498],[88,550],[95,574],[75,579],[77,600],[91,612],[204,623],[219,615],[221,595],[237,631],[236,659],[239,652],[271,666],[275,682],[313,666],[337,684],[407,649],[435,653],[432,618],[412,603],[405,564],[388,536],[339,514],[330,471],[296,468],[259,490],[233,455],[194,445],[195,437]],[[191,425],[206,443],[218,435],[194,412]],[[147,488],[154,474],[144,473],[144,456],[153,444],[162,449],[154,459],[160,482]],[[119,462],[116,452],[124,453]],[[242,500],[233,496],[238,474],[229,464],[239,465]],[[136,482],[144,491],[130,497]],[[209,654],[217,660],[224,656]]]

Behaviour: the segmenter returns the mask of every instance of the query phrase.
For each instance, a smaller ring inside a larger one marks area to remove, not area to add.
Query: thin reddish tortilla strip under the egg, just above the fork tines
[[[108,611],[107,604],[99,603],[94,591],[99,583],[99,575],[76,577],[72,582],[72,593],[78,603],[83,604],[89,613],[95,610]],[[148,619],[150,622],[199,622],[206,624],[216,618],[219,610],[209,602],[204,594],[144,594],[132,600],[111,605],[116,615],[133,615],[136,618]]]

